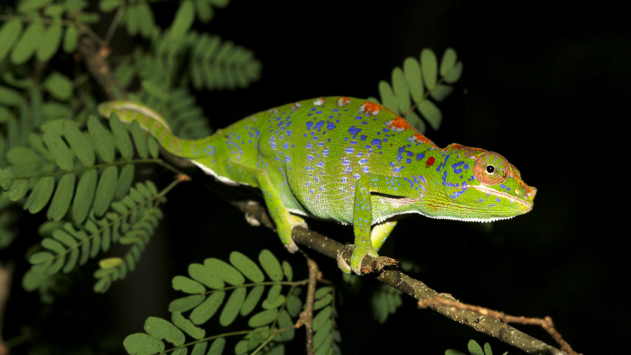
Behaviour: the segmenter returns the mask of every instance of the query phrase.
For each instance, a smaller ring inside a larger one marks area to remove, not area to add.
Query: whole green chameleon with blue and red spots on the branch
[[[457,143],[437,147],[395,112],[369,100],[319,97],[262,111],[199,140],[175,136],[144,105],[118,100],[98,107],[138,121],[168,152],[230,185],[261,191],[278,236],[292,253],[302,217],[351,224],[355,248],[347,274],[362,274],[398,219],[491,222],[533,208],[536,188],[502,155]],[[340,260],[341,259],[341,260]]]

